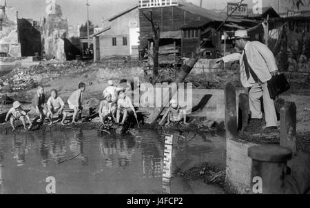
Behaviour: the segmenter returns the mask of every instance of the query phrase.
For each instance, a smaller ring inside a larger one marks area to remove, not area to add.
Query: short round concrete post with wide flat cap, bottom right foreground
[[[287,160],[292,157],[291,149],[278,145],[250,147],[252,159],[251,192],[254,194],[285,194]]]

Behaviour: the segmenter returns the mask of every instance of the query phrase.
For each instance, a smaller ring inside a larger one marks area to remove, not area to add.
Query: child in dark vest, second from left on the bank
[[[44,87],[39,85],[37,88],[37,93],[34,94],[32,98],[32,113],[36,115],[34,120],[32,121],[32,125],[37,123],[39,119],[41,119],[41,123],[44,122],[44,118],[46,115],[46,105],[45,105],[45,94],[44,94]],[[32,125],[28,127],[31,129]]]

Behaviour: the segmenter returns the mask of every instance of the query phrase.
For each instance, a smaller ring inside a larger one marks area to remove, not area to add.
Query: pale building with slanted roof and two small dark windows
[[[136,56],[138,58],[138,5],[107,19],[109,26],[92,35],[94,61],[109,56]]]

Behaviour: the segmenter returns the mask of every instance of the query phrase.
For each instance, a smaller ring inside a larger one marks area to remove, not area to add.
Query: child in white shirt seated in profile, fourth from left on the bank
[[[75,117],[79,113],[82,113],[83,107],[82,107],[82,94],[85,92],[86,85],[85,83],[79,83],[79,89],[75,90],[71,96],[68,99],[69,108],[74,110],[73,117],[72,117],[72,123],[75,124]]]

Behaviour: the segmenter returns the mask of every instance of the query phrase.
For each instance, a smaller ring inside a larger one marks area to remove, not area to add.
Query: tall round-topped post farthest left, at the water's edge
[[[232,83],[225,85],[225,129],[226,139],[238,137],[236,87]]]

